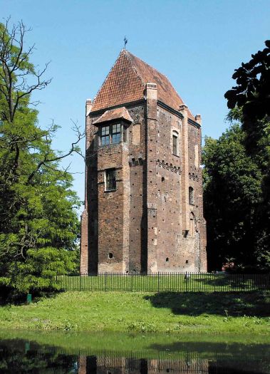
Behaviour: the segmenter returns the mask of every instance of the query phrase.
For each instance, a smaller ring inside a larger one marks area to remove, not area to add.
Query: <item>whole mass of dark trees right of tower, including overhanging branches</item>
[[[270,268],[270,41],[235,70],[225,93],[233,125],[206,139],[204,204],[212,269],[226,258]]]

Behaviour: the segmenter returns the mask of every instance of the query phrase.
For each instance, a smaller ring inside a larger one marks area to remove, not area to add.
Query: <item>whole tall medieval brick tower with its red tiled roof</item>
[[[86,101],[81,273],[206,271],[201,116],[123,49]]]

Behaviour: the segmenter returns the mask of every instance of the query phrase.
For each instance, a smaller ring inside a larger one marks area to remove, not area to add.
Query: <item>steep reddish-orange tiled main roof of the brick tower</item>
[[[183,104],[166,76],[123,49],[93,100],[92,110],[130,103],[144,98],[145,84],[157,84],[157,98],[175,110]],[[189,118],[194,120],[192,113]]]

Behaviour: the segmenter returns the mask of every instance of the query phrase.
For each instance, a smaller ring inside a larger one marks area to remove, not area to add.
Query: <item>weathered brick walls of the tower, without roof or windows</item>
[[[104,111],[88,113],[81,272],[207,270],[201,129],[188,122],[185,105],[177,114],[159,105],[156,93],[149,85],[145,103],[126,105],[133,123],[125,144],[98,147],[93,122]],[[113,192],[105,192],[109,168],[117,173]]]

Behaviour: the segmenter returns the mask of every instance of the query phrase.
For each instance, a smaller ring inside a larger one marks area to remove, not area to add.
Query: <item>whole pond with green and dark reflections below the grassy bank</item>
[[[0,373],[270,373],[270,345],[248,337],[9,331],[0,338]]]

